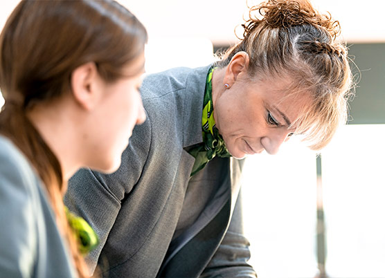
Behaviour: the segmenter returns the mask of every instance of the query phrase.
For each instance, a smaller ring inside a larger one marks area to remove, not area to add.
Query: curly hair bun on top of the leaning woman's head
[[[257,12],[256,15],[253,13]],[[258,17],[262,16],[261,19]],[[328,30],[332,37],[339,34],[339,22],[333,21],[330,14],[320,15],[308,0],[268,0],[250,8],[250,19],[243,24],[244,35],[265,22],[271,28],[289,28],[303,24],[320,26]]]

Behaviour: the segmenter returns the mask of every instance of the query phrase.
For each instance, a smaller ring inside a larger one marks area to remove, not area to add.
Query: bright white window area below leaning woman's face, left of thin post
[[[243,171],[244,232],[259,278],[318,272],[316,154],[291,140],[276,156],[250,156]]]

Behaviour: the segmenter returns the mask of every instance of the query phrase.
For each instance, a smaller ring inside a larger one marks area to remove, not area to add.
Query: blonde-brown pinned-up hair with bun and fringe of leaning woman
[[[352,73],[346,45],[337,39],[339,22],[322,15],[307,0],[269,0],[253,6],[242,27],[243,38],[217,65],[224,67],[239,51],[249,55],[251,78],[289,77],[286,94],[310,93],[296,132],[306,133],[312,149],[331,140],[346,122]]]

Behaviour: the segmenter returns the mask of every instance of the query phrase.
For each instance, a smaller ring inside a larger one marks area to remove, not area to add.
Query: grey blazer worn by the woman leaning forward
[[[215,158],[190,178],[195,158],[186,150],[202,142],[208,68],[147,76],[141,88],[147,120],[134,129],[118,171],[82,169],[69,181],[66,205],[100,236],[92,269],[98,262],[109,277],[256,277],[247,264],[239,200],[235,207],[243,161]],[[214,187],[210,196],[195,189]],[[204,210],[173,237],[181,212],[187,215],[201,197]]]

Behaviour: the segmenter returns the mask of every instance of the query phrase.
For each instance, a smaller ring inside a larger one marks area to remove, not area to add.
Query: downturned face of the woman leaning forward
[[[226,147],[235,158],[266,150],[276,154],[280,145],[295,132],[289,129],[310,103],[307,95],[285,97],[289,83],[283,79],[238,79],[217,98],[214,117]]]

